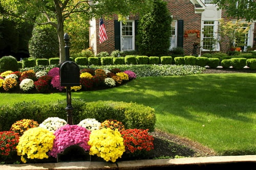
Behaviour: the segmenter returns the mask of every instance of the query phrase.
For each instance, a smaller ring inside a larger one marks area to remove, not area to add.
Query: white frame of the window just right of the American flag
[[[125,36],[125,35],[122,35],[122,25],[123,23],[125,22],[132,22],[132,34],[133,35],[128,35],[128,36]],[[125,22],[122,22],[120,21],[120,42],[121,42],[121,51],[133,51],[135,50],[135,20],[126,20]],[[124,45],[124,38],[123,37],[132,37],[132,49],[123,49]]]

